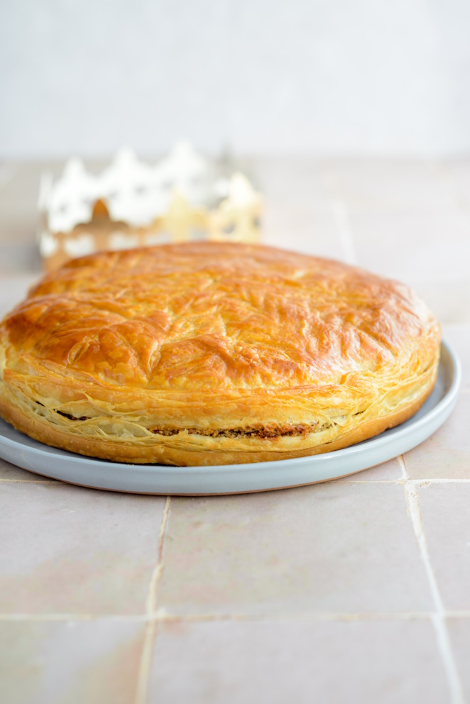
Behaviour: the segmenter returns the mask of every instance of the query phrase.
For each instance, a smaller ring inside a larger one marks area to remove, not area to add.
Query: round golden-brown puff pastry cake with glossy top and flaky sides
[[[46,276],[0,324],[0,413],[129,463],[339,449],[435,384],[440,329],[397,282],[263,246],[103,252]]]

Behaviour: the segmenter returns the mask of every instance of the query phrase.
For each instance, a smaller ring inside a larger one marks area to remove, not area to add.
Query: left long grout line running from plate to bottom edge
[[[160,532],[158,533],[158,560],[153,569],[150,584],[148,585],[148,593],[146,598],[146,614],[148,624],[146,633],[143,639],[141,663],[138,671],[136,700],[135,704],[146,704],[148,697],[148,681],[150,679],[153,642],[157,627],[155,619],[155,606],[158,593],[158,585],[163,572],[163,544],[165,541],[165,533],[168,526],[168,517],[170,515],[171,497],[167,496],[165,500],[165,508],[163,509],[162,522],[160,524]]]

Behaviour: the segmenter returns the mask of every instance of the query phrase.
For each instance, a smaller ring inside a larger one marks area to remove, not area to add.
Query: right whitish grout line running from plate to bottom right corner
[[[432,569],[430,554],[427,550],[427,541],[425,537],[424,526],[422,524],[420,499],[417,495],[417,484],[415,482],[411,483],[408,481],[408,472],[406,470],[405,459],[403,458],[403,455],[399,456],[398,461],[400,462],[403,478],[405,479],[403,488],[405,490],[405,499],[408,507],[408,515],[410,516],[412,529],[415,533],[415,538],[420,549],[421,558],[425,565],[427,579],[432,594],[432,600],[435,604],[435,612],[431,614],[431,621],[435,629],[437,647],[440,651],[444,664],[444,670],[447,674],[447,682],[449,684],[449,689],[452,696],[452,704],[465,704],[464,691],[461,685],[459,673],[457,671],[457,665],[455,664],[454,656],[452,654],[449,632],[447,630],[446,612],[442,603],[439,587],[437,586],[435,573]]]

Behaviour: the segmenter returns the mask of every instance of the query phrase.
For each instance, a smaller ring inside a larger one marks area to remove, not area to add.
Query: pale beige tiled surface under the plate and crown
[[[254,167],[266,242],[425,297],[457,407],[404,458],[270,494],[165,503],[0,461],[2,704],[470,702],[470,160]],[[38,275],[40,169],[2,171],[0,314]]]

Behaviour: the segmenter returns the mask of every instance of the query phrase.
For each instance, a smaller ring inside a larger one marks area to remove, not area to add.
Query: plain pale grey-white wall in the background
[[[0,0],[0,158],[470,150],[470,0]]]

